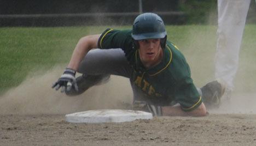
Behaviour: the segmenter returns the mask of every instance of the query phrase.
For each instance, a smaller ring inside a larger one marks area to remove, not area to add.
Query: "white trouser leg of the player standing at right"
[[[239,51],[251,0],[218,0],[218,40],[215,75],[226,84],[224,97],[230,99],[238,68]]]

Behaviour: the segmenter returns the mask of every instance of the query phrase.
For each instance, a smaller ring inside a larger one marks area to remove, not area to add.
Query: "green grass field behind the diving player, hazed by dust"
[[[0,28],[0,93],[18,86],[36,70],[67,65],[73,48],[84,35],[98,34],[106,27]],[[117,29],[130,28],[114,27]],[[168,39],[187,58],[196,86],[214,80],[216,26],[167,26]],[[246,26],[237,72],[237,89],[256,89],[256,26]],[[254,81],[254,82],[253,82]]]

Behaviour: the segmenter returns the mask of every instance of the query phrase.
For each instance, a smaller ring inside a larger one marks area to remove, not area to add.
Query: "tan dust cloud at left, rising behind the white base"
[[[111,76],[106,84],[69,97],[51,88],[62,74],[56,67],[43,75],[27,78],[0,97],[0,114],[68,114],[89,109],[126,108],[132,102],[129,80]]]

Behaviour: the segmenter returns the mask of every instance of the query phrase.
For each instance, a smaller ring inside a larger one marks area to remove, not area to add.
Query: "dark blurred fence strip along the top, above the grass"
[[[131,25],[146,12],[166,25],[215,25],[217,0],[0,0],[0,26]],[[252,1],[247,23],[256,23],[255,12]]]

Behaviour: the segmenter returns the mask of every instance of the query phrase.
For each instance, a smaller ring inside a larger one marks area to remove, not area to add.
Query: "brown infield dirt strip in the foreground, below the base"
[[[255,145],[256,115],[67,123],[64,115],[0,115],[0,145]]]

